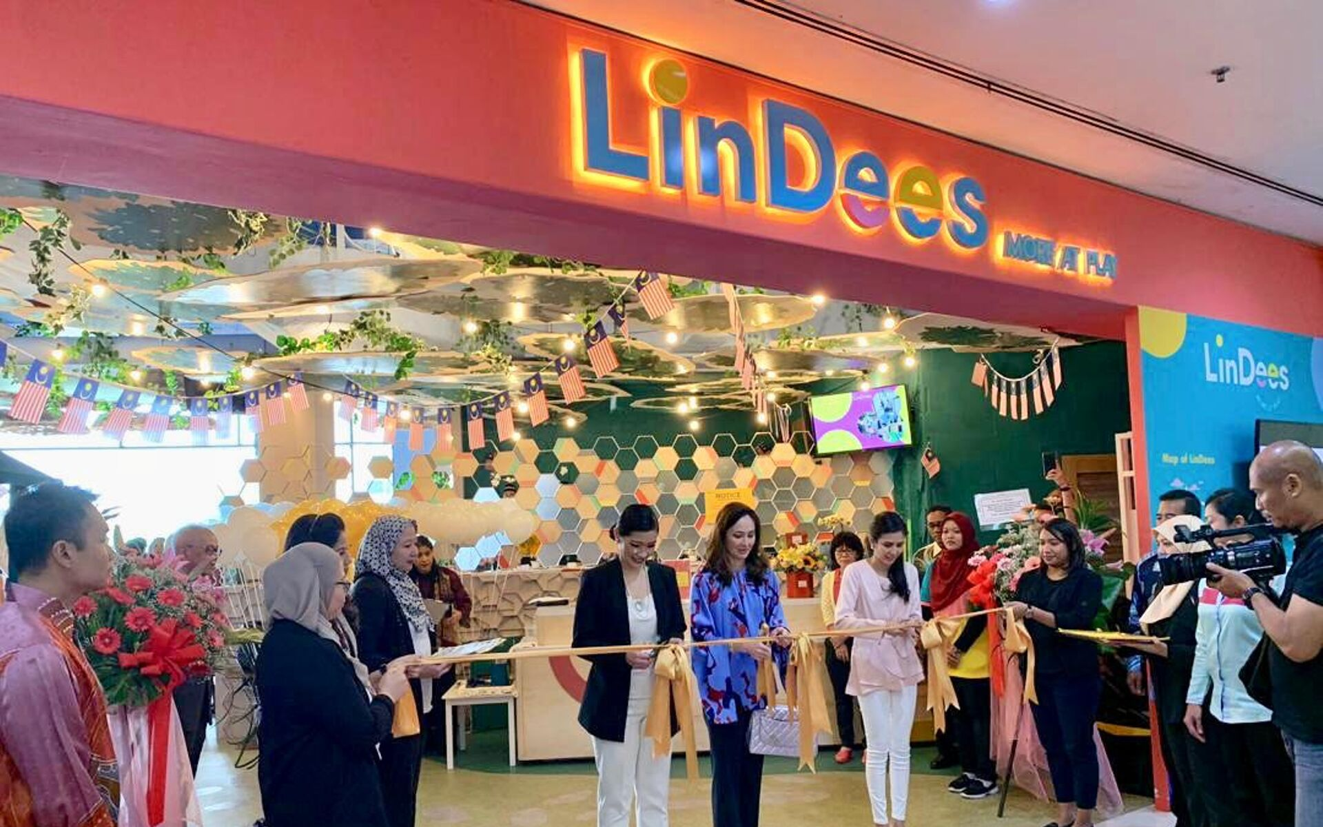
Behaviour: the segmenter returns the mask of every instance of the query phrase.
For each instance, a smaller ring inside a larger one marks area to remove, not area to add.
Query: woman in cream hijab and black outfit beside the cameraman
[[[1180,515],[1155,528],[1159,554],[1189,554],[1208,549],[1205,543],[1177,543],[1176,528],[1181,525],[1195,529],[1203,525],[1203,520]],[[1140,615],[1139,626],[1144,634],[1167,640],[1135,648],[1147,655],[1148,674],[1152,677],[1159,718],[1156,725],[1163,762],[1171,777],[1176,824],[1230,827],[1236,823],[1234,807],[1230,798],[1224,795],[1228,786],[1217,756],[1207,744],[1196,741],[1184,724],[1199,626],[1199,593],[1193,586],[1193,582],[1159,586],[1148,609]]]

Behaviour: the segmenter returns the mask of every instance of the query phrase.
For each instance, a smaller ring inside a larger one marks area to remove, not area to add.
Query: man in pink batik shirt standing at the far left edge
[[[42,483],[4,517],[0,827],[114,827],[119,771],[106,696],[70,609],[110,580],[106,520],[81,488]]]

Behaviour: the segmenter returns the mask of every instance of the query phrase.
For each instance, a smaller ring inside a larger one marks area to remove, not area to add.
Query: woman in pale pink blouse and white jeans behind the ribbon
[[[923,622],[918,569],[905,562],[905,519],[893,511],[877,515],[869,529],[873,556],[839,572],[835,627],[841,630],[905,626],[897,631],[855,636],[847,692],[859,699],[868,738],[868,798],[873,823],[904,827],[909,799],[910,729],[923,667],[914,648]],[[847,708],[849,708],[847,705]],[[886,781],[890,775],[890,812]]]

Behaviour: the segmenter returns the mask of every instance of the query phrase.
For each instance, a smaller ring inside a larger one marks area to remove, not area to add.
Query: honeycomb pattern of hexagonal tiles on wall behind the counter
[[[892,501],[892,457],[885,451],[814,457],[808,443],[807,434],[778,445],[767,433],[634,438],[549,433],[538,434],[536,442],[490,442],[476,453],[447,449],[406,459],[397,450],[397,460],[409,463],[415,480],[425,467],[448,468],[456,490],[476,501],[499,499],[499,478],[513,476],[516,499],[541,520],[541,562],[554,566],[574,554],[591,565],[613,548],[609,531],[635,501],[658,509],[663,557],[677,557],[685,546],[701,553],[712,532],[705,495],[714,490],[751,488],[765,532],[792,532],[830,513],[841,513],[856,531],[867,531],[873,513]],[[456,566],[472,570],[503,544],[497,535],[459,549]]]

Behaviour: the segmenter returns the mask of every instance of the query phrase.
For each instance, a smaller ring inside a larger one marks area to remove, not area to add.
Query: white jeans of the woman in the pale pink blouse
[[[909,802],[909,737],[914,726],[914,703],[918,687],[897,691],[875,689],[859,697],[864,713],[864,736],[868,738],[868,798],[873,805],[873,823],[885,824],[886,777],[892,781],[892,818],[905,820]]]

